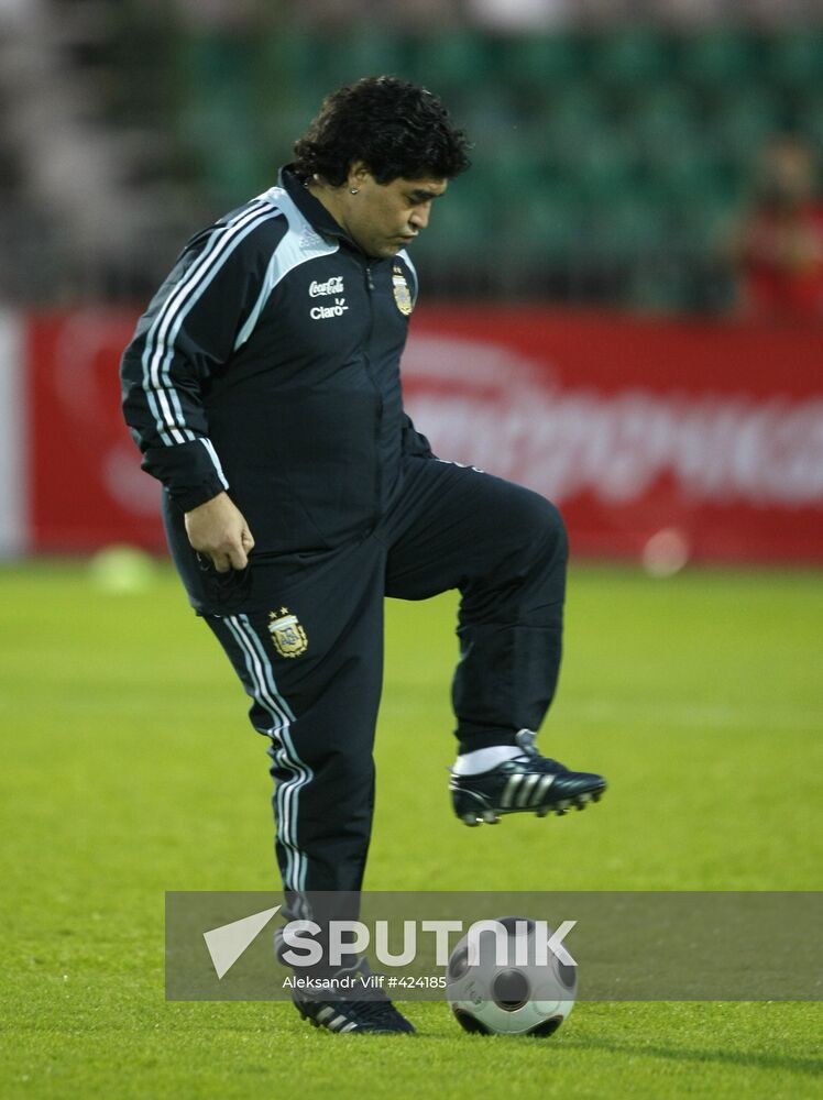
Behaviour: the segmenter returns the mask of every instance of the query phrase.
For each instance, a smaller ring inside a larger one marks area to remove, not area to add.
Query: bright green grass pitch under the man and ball
[[[572,572],[544,751],[602,770],[599,806],[452,816],[454,601],[387,608],[371,889],[815,890],[823,576]],[[0,570],[0,1097],[823,1096],[820,1004],[580,1003],[550,1040],[337,1037],[289,1004],[166,1003],[173,890],[277,886],[265,744],[165,568]]]

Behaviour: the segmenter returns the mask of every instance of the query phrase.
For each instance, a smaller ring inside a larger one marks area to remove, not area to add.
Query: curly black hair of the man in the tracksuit
[[[470,164],[465,133],[439,99],[391,76],[369,76],[332,91],[308,131],[295,142],[294,172],[332,187],[362,161],[378,184],[451,179]]]

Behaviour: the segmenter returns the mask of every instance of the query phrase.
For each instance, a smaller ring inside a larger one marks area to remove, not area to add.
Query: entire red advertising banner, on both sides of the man
[[[163,546],[120,416],[134,321],[30,319],[33,549]],[[553,499],[575,553],[823,561],[823,330],[427,308],[404,380],[436,453]]]

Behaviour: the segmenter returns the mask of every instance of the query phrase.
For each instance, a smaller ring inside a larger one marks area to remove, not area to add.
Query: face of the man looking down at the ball
[[[342,197],[342,226],[369,256],[393,256],[426,229],[431,204],[446,193],[445,179],[378,184],[365,168],[351,174]],[[351,188],[358,194],[352,195]]]

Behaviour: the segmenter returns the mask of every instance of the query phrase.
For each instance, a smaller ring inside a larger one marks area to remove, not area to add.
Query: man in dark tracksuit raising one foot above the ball
[[[557,509],[435,458],[403,410],[417,299],[405,246],[467,147],[421,88],[377,77],[336,91],[277,186],[191,240],[123,356],[174,560],[271,738],[293,912],[307,891],[361,887],[387,595],[461,592],[460,818],[562,813],[605,788],[544,759],[529,732],[560,663]],[[413,1030],[387,1000],[297,1007],[331,1030]]]

